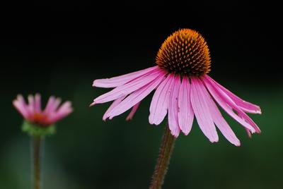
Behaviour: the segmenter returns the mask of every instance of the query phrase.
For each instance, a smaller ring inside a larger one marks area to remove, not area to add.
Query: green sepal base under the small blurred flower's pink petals
[[[54,135],[56,133],[55,125],[50,126],[40,126],[35,123],[30,123],[28,121],[23,121],[22,130],[25,133],[28,133],[30,136],[46,136]]]

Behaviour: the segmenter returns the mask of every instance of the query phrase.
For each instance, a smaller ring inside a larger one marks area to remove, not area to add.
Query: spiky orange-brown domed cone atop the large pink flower
[[[156,63],[169,73],[199,76],[210,71],[210,54],[207,42],[195,30],[173,32],[161,45]]]

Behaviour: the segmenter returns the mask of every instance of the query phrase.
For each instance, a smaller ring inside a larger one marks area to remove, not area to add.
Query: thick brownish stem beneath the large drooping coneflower
[[[161,147],[159,150],[158,160],[152,176],[150,189],[160,189],[163,185],[164,178],[168,169],[171,154],[173,152],[175,138],[171,135],[168,125],[166,126]]]

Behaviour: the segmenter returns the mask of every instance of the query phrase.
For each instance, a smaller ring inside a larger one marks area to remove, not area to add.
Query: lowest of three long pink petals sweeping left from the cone
[[[110,112],[110,119],[118,116],[128,109],[132,108],[138,102],[141,102],[151,91],[153,91],[164,79],[164,73],[161,72],[157,77],[151,81],[151,83],[144,85],[139,90],[129,94],[119,105],[117,105],[111,112]]]

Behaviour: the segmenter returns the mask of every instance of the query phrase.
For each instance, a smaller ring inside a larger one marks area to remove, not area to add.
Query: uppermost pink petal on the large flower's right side
[[[204,78],[207,78],[207,80],[210,80],[212,83],[214,83],[219,89],[221,89],[223,92],[225,92],[232,100],[235,102],[239,108],[241,108],[243,111],[251,114],[261,114],[260,106],[252,104],[250,102],[246,102],[243,99],[239,98],[235,94],[233,94],[231,91],[227,90],[225,87],[217,83],[215,80],[213,80],[209,75],[204,75]]]

